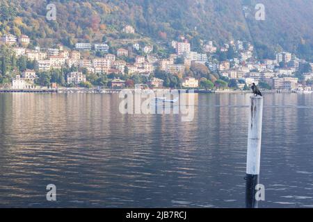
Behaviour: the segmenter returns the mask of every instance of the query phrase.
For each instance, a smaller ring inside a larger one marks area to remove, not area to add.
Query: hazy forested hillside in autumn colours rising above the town
[[[0,34],[29,35],[33,42],[116,40],[123,26],[136,28],[135,37],[170,42],[180,34],[197,48],[201,40],[220,44],[226,40],[249,40],[259,55],[280,49],[312,59],[312,0],[102,0],[44,1],[1,0]],[[47,21],[46,6],[55,3],[56,21]],[[265,21],[254,19],[255,4],[263,3]],[[250,10],[245,17],[243,6]]]

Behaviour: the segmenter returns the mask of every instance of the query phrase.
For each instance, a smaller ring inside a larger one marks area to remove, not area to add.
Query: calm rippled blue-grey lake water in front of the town
[[[0,207],[245,207],[249,101],[196,95],[182,122],[118,94],[0,94]],[[259,207],[313,207],[312,160],[313,95],[266,94]]]

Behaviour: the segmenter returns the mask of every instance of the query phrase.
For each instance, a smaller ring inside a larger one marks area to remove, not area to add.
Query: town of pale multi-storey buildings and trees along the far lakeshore
[[[121,32],[134,34],[136,30],[125,26]],[[1,37],[1,46],[14,51],[16,58],[26,58],[34,65],[33,69],[13,71],[10,84],[0,87],[123,88],[143,83],[151,88],[248,90],[256,83],[262,89],[275,92],[312,92],[313,63],[284,51],[276,53],[275,58],[258,60],[254,46],[241,40],[222,46],[216,46],[212,40],[202,41],[202,50],[198,52],[192,51],[186,37],[179,36],[168,42],[172,52],[168,58],[160,58],[153,45],[139,42],[114,50],[107,42],[77,42],[74,49],[65,49],[62,44],[41,49],[29,47],[30,43],[27,35]],[[51,70],[62,70],[64,80],[38,80]]]

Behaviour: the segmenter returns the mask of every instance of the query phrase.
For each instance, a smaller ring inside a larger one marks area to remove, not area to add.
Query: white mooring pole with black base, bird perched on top
[[[255,186],[259,184],[261,159],[263,96],[251,96],[246,171],[246,207],[257,208]]]

